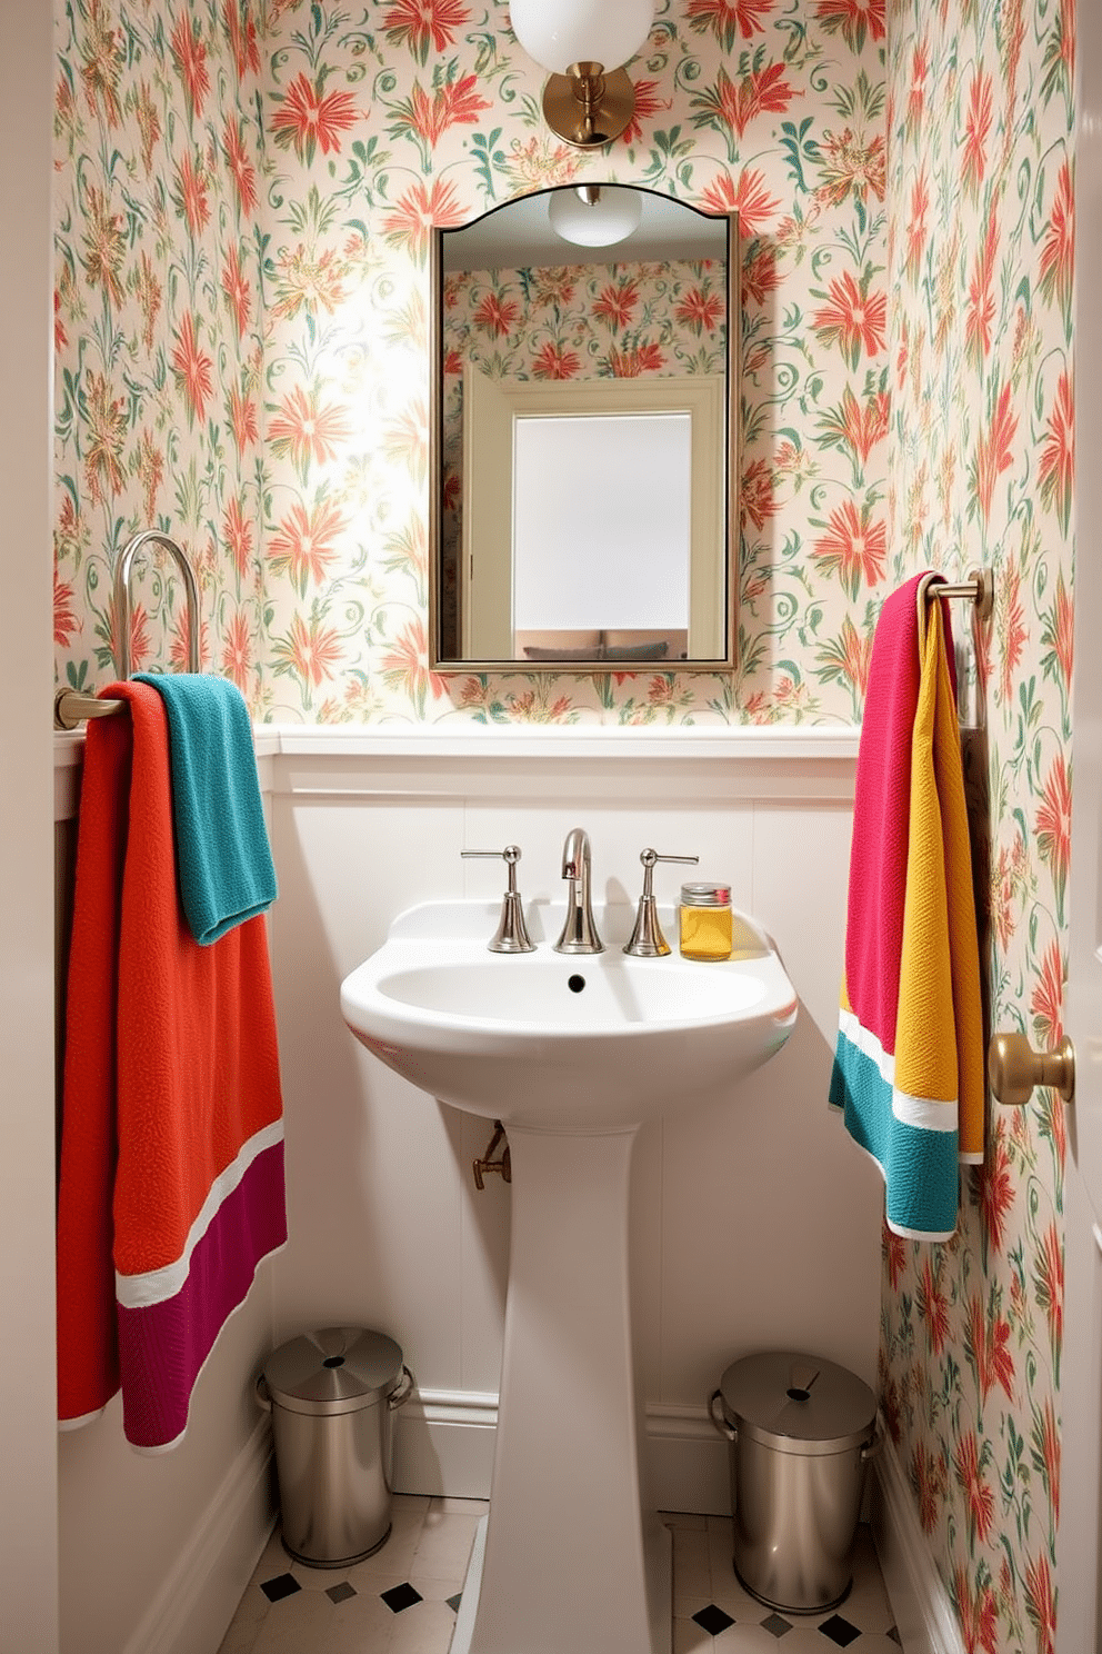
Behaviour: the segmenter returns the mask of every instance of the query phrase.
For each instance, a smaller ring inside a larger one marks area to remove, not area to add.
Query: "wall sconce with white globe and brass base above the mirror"
[[[511,0],[512,31],[550,71],[544,119],[575,149],[601,149],[628,126],[634,88],[621,65],[646,43],[654,0]]]

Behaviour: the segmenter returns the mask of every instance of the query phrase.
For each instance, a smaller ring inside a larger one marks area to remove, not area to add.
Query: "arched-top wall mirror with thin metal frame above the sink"
[[[623,185],[433,232],[433,670],[734,665],[737,246]]]

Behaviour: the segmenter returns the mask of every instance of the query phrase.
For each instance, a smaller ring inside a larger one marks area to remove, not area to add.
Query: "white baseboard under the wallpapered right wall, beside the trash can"
[[[872,1540],[904,1654],[965,1654],[950,1594],[889,1436],[872,1467]]]

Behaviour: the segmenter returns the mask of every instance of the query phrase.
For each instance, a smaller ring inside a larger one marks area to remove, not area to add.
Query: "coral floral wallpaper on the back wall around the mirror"
[[[585,157],[506,3],[276,5],[263,711],[278,719],[851,721],[887,579],[882,0],[667,0]],[[426,668],[431,225],[641,182],[743,237],[740,668]]]

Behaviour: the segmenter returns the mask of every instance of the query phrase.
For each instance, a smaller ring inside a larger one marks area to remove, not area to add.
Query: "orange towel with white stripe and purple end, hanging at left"
[[[58,1416],[122,1388],[162,1449],[259,1260],[286,1240],[264,918],[207,948],[180,910],[164,701],[88,728],[58,1196]]]

